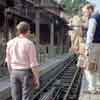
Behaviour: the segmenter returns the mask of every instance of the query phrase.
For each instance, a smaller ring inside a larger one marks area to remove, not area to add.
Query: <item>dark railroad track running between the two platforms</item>
[[[78,100],[82,72],[76,67],[76,60],[72,56],[42,75],[41,88],[34,91],[32,100]]]

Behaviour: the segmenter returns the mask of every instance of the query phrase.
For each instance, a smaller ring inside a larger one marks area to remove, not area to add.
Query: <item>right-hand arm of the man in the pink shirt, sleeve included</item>
[[[39,83],[39,71],[38,71],[39,64],[37,62],[37,54],[36,54],[36,49],[35,49],[34,45],[30,45],[29,61],[30,61],[30,67],[31,67],[32,72],[33,72],[33,77],[35,78],[35,83],[37,85],[37,88],[39,88],[39,86],[40,86],[40,83]]]

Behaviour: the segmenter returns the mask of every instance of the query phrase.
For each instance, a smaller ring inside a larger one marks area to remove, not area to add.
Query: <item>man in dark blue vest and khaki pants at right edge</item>
[[[86,54],[89,61],[95,61],[97,64],[96,71],[90,71],[87,66],[85,70],[86,79],[88,81],[88,91],[96,93],[100,91],[100,14],[94,13],[94,6],[86,4],[82,8],[84,16],[88,17],[88,31],[86,37]]]

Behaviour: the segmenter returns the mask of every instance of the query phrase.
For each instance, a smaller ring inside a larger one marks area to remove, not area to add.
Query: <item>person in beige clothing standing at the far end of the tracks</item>
[[[71,49],[74,53],[79,54],[77,66],[82,67],[84,53],[85,53],[85,41],[81,29],[82,20],[79,16],[72,18],[73,31],[71,33]]]

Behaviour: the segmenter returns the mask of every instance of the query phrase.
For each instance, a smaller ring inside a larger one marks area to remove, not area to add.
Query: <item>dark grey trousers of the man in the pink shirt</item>
[[[32,100],[32,78],[30,70],[13,70],[10,73],[12,100]]]

